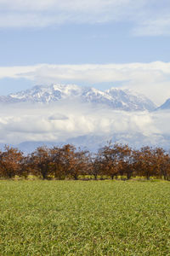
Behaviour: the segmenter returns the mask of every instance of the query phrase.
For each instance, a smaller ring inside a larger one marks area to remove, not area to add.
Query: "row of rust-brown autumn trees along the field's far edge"
[[[170,155],[163,148],[130,148],[108,143],[96,154],[71,144],[62,147],[38,147],[31,154],[5,146],[0,151],[0,177],[42,179],[102,179],[150,177],[170,180]]]

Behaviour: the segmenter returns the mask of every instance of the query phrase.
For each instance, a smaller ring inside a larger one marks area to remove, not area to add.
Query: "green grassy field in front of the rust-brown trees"
[[[0,255],[170,255],[170,183],[0,181]]]

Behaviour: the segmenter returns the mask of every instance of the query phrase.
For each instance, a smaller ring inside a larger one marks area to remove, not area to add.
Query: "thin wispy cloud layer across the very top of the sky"
[[[0,27],[129,22],[138,36],[169,35],[168,0],[0,0]]]

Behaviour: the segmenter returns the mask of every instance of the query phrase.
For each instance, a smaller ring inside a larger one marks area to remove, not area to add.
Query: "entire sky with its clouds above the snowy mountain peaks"
[[[170,96],[169,14],[168,0],[0,0],[0,95],[39,83],[122,85],[159,104]],[[81,78],[68,76],[72,65]]]

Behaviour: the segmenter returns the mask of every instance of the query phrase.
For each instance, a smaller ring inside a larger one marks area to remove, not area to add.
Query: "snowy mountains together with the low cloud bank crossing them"
[[[0,147],[26,153],[38,146],[73,143],[92,151],[108,141],[170,148],[170,100],[157,108],[131,90],[76,84],[37,85],[0,96]]]

